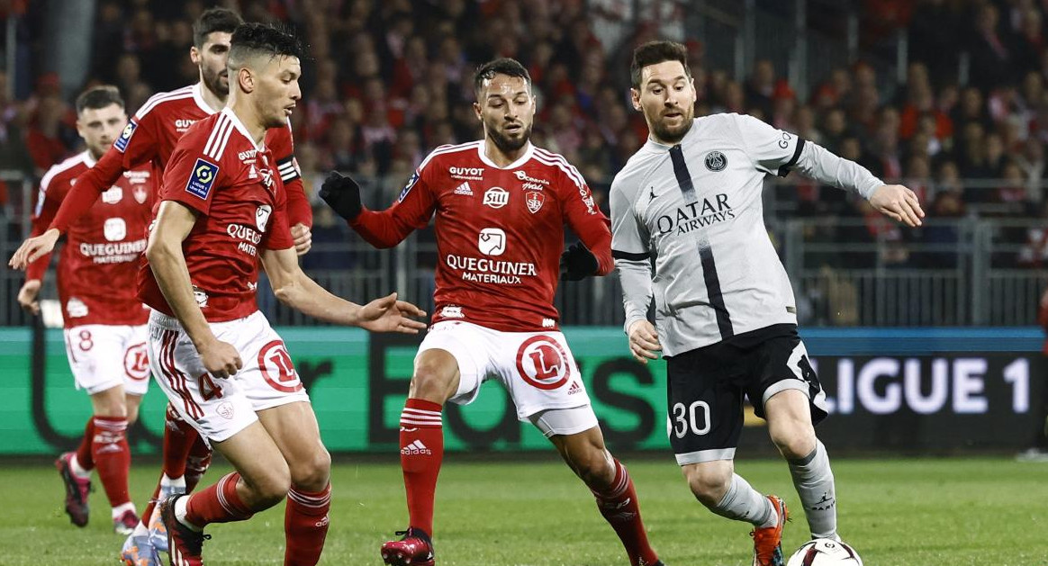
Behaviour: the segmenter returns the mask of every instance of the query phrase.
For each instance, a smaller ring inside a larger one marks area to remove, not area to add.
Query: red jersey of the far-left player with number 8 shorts
[[[32,216],[34,236],[47,230],[78,175],[93,165],[94,159],[85,151],[44,175]],[[69,227],[58,265],[66,328],[146,324],[149,311],[135,296],[135,273],[138,257],[146,249],[155,184],[150,167],[126,171]],[[43,280],[50,258],[48,254],[29,264],[25,278]]]

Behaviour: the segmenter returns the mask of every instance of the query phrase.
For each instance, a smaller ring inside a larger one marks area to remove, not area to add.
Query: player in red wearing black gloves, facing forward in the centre
[[[578,280],[611,271],[608,219],[574,167],[530,144],[536,101],[520,63],[483,65],[475,91],[484,139],[434,150],[388,210],[366,210],[349,177],[332,174],[321,191],[376,247],[396,245],[436,212],[436,310],[400,415],[409,528],[383,545],[383,560],[434,564],[441,411],[449,400],[471,402],[484,380],[498,379],[518,417],[538,427],[592,491],[630,564],[661,564],[648,544],[633,482],[605,448],[553,307],[559,275]],[[585,245],[562,256],[565,222]]]

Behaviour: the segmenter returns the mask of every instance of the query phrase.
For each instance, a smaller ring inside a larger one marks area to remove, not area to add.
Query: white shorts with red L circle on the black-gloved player
[[[468,405],[477,398],[481,384],[498,379],[514,399],[520,420],[542,411],[590,406],[578,366],[561,332],[500,332],[443,321],[430,327],[418,353],[434,349],[451,353],[458,362],[461,379],[452,402]],[[575,432],[595,426],[593,417],[591,426]]]

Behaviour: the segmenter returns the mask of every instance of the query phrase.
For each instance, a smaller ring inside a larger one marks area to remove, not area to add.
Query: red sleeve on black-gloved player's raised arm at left
[[[416,170],[392,206],[381,212],[364,209],[349,225],[375,247],[393,247],[412,231],[425,227],[437,209],[437,197],[427,171]]]

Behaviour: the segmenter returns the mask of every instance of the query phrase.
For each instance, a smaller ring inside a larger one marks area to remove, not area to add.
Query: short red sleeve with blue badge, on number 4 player
[[[219,159],[204,155],[201,146],[190,136],[182,136],[178,142],[163,171],[160,200],[173,200],[208,214],[215,192],[224,182],[227,172],[222,171]]]

